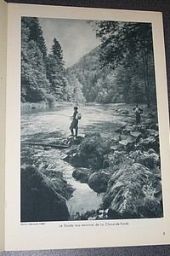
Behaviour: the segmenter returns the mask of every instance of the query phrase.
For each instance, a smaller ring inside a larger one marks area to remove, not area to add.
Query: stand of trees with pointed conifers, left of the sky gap
[[[63,50],[54,38],[50,54],[37,18],[21,22],[21,102],[85,102],[82,84],[65,73]]]

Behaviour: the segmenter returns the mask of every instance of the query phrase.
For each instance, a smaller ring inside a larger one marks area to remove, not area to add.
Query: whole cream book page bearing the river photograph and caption
[[[7,250],[169,243],[161,13],[8,4],[7,82]]]

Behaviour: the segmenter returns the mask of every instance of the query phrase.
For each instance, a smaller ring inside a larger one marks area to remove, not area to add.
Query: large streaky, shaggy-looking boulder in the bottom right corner
[[[160,184],[160,177],[141,164],[122,166],[112,175],[105,193],[104,207],[109,208],[108,217],[162,217]],[[155,195],[156,190],[159,197]]]

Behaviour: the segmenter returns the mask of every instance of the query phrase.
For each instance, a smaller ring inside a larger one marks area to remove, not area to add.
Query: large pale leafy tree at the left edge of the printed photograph
[[[21,101],[40,102],[48,93],[48,79],[43,54],[34,40],[30,40],[30,29],[21,23]]]

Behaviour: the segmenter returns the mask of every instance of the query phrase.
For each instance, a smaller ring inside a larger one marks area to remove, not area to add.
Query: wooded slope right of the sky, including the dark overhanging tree
[[[101,21],[92,24],[102,44],[73,67],[87,102],[156,103],[150,24]]]

